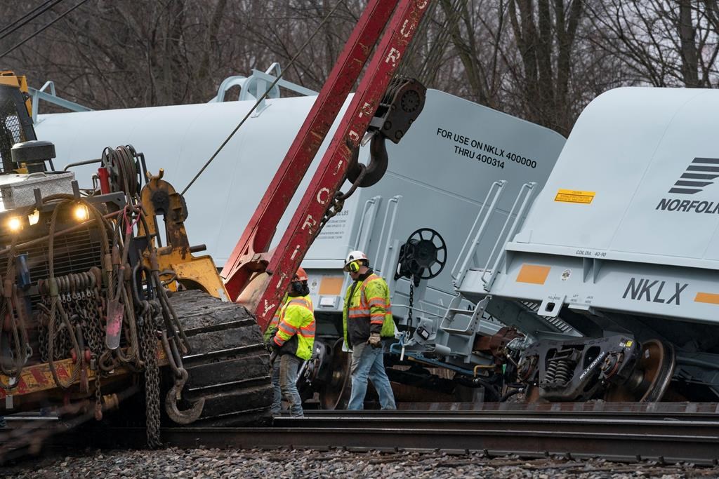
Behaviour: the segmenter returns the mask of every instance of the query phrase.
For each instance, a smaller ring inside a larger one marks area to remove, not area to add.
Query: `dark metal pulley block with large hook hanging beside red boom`
[[[367,133],[370,139],[370,162],[359,163],[359,148],[352,153],[347,169],[347,180],[359,187],[375,185],[387,171],[388,156],[385,139],[399,143],[424,107],[427,89],[417,80],[396,77],[370,121]],[[364,142],[363,142],[364,144]]]

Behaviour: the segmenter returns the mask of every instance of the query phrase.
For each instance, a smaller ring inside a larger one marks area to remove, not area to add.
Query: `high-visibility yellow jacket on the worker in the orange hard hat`
[[[312,300],[308,296],[290,296],[280,311],[275,344],[280,355],[294,354],[301,359],[312,357],[315,321]]]

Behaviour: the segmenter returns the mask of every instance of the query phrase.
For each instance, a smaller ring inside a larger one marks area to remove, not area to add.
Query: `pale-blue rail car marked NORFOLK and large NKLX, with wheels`
[[[718,112],[719,90],[599,96],[495,281],[465,274],[463,297],[539,340],[521,364],[539,396],[718,399]]]

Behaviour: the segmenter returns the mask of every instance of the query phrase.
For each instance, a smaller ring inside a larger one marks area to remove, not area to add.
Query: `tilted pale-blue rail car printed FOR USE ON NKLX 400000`
[[[218,266],[231,253],[315,98],[267,100],[186,193],[190,241],[206,244]],[[59,167],[97,158],[104,147],[132,144],[145,153],[148,169],[156,173],[164,168],[165,179],[179,191],[254,103],[55,113],[40,115],[35,128],[39,138],[55,144]],[[278,231],[287,225],[333,132],[334,126]],[[399,246],[418,228],[432,228],[444,238],[446,263],[453,264],[493,182],[510,180],[493,223],[498,228],[513,192],[524,182],[542,184],[563,145],[564,138],[553,131],[428,90],[423,112],[408,134],[399,144],[388,142],[390,162],[383,179],[347,200],[303,261],[316,309],[341,312],[347,281],[342,265],[352,249],[367,251],[372,265],[393,283]],[[360,152],[361,162],[367,162],[368,150],[369,145]],[[94,167],[73,170],[81,186],[83,180],[89,186]],[[442,313],[454,295],[449,269],[426,282],[427,304],[417,301],[416,307]],[[397,289],[395,315],[406,315],[401,305],[406,304],[408,282],[400,281]]]

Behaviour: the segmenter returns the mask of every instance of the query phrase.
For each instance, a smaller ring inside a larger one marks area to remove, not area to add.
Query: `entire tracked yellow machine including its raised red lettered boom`
[[[159,443],[163,411],[178,424],[269,417],[273,391],[260,327],[326,221],[357,187],[382,177],[385,138],[399,141],[421,111],[425,89],[395,73],[428,6],[426,0],[368,2],[224,266],[224,281],[209,256],[193,255],[203,247],[188,241],[188,208],[162,170],[147,172],[145,157],[129,145],[106,147],[99,158],[75,163],[98,164],[93,187],[81,190],[72,172],[55,171],[55,147],[35,139],[26,80],[5,73],[0,414],[51,406],[57,414],[101,419],[132,398],[121,408],[123,419],[146,423],[150,445]],[[375,43],[370,60],[367,46]],[[311,186],[269,251],[366,62]],[[367,165],[356,154],[365,134],[373,152]],[[353,185],[343,195],[347,178]],[[243,298],[252,314],[234,302]],[[144,414],[132,407],[139,390]]]

